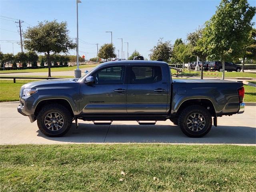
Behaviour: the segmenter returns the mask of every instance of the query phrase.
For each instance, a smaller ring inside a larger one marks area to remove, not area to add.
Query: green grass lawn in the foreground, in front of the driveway
[[[2,192],[255,191],[256,147],[6,145],[0,146],[0,189]]]

